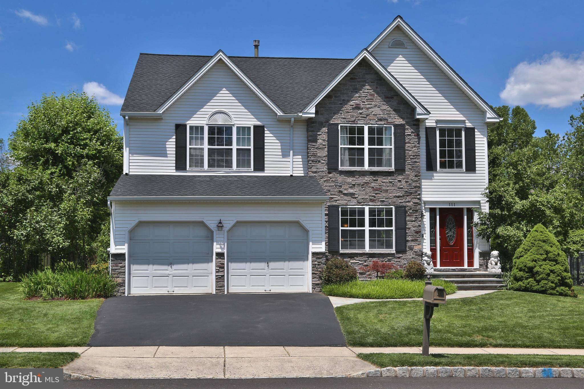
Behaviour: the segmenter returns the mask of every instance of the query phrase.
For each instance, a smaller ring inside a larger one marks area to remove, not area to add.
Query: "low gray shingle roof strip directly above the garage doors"
[[[122,175],[110,197],[326,196],[310,176],[194,176],[188,174]]]

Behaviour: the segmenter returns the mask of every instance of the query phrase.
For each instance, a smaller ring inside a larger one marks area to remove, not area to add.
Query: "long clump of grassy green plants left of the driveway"
[[[95,299],[113,296],[116,291],[116,283],[107,274],[71,269],[68,265],[59,268],[55,272],[45,269],[22,276],[20,293],[27,299]]]

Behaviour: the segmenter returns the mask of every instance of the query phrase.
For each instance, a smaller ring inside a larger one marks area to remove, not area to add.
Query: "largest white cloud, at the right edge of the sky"
[[[515,66],[499,96],[507,104],[562,108],[579,101],[582,94],[584,52],[568,57],[552,52]]]

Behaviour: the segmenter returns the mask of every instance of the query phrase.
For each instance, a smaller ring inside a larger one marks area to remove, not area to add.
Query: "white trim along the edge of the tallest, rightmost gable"
[[[413,30],[412,27],[410,27],[401,16],[395,17],[393,22],[391,22],[389,26],[385,27],[381,34],[379,34],[377,38],[375,38],[367,46],[367,50],[373,51],[374,48],[376,48],[377,45],[380,44],[385,39],[385,37],[387,37],[396,28],[399,28],[404,33],[404,35],[413,44],[415,44],[416,47],[418,47],[419,50],[423,52],[423,54],[425,54],[432,62],[434,62],[434,64],[436,64],[436,66],[438,66],[438,68],[442,70],[446,76],[449,77],[477,107],[484,111],[485,122],[498,122],[500,120],[499,115],[495,112],[495,110],[493,110],[493,108],[491,108],[491,106],[489,106],[489,104],[486,103],[486,101],[482,99],[482,97],[479,96],[479,94],[475,92],[475,90],[472,89],[472,87],[468,85],[468,83],[465,82],[465,80],[460,75],[458,75],[458,73],[454,71],[454,69],[451,68],[442,57],[440,57],[440,55],[434,51],[434,49],[430,47],[430,45],[427,44],[426,41],[423,40],[423,38],[420,37],[419,34],[416,33],[416,31]]]

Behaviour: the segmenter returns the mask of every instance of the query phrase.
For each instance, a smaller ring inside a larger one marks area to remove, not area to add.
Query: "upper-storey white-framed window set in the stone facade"
[[[391,125],[339,126],[340,169],[392,169]]]

